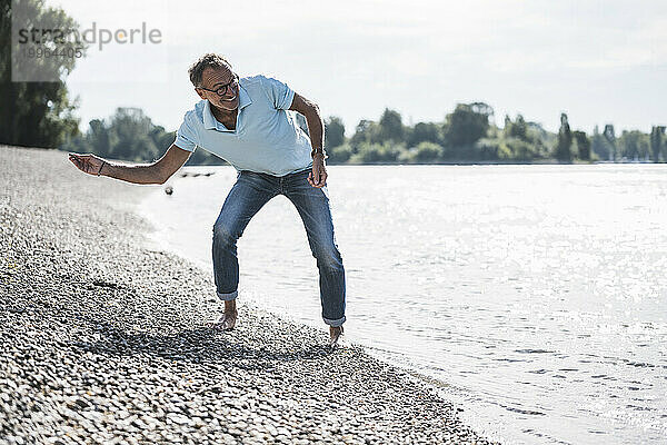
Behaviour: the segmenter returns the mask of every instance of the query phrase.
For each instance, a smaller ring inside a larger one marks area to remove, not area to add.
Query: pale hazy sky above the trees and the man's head
[[[109,43],[68,79],[81,129],[138,107],[176,130],[199,100],[188,67],[206,52],[239,76],[285,81],[340,117],[351,136],[385,108],[404,123],[442,121],[484,101],[555,131],[667,123],[664,0],[151,1],[48,0],[82,28],[158,29],[157,44]]]

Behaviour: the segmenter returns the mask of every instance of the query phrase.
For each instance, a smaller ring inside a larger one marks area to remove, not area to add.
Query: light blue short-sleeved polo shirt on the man
[[[291,107],[295,91],[265,76],[239,79],[236,130],[228,130],[201,100],[186,112],[177,131],[177,147],[197,147],[225,159],[237,170],[273,176],[302,171],[312,166],[310,138],[299,127]]]

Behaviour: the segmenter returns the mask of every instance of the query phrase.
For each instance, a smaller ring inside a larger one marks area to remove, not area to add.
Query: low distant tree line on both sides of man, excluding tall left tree
[[[498,127],[492,116],[492,108],[484,102],[459,103],[442,122],[406,126],[398,111],[385,109],[378,121],[359,121],[350,137],[340,118],[329,117],[325,121],[328,164],[667,161],[661,126],[650,135],[624,130],[617,137],[609,123],[587,135],[571,130],[567,115],[561,113],[556,134],[521,115],[505,116],[504,126]],[[306,119],[297,117],[308,131]],[[91,120],[83,135],[69,139],[61,149],[146,161],[159,158],[175,139],[175,131],[155,125],[140,109],[118,108],[107,120]],[[222,164],[199,149],[187,165]]]

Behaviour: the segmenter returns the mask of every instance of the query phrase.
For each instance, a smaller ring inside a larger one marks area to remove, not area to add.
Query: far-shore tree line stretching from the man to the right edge
[[[402,123],[396,110],[385,109],[378,121],[361,120],[346,137],[341,120],[326,121],[326,146],[330,164],[457,164],[457,162],[591,162],[667,161],[665,127],[650,135],[614,125],[593,135],[573,130],[566,113],[558,132],[518,115],[494,121],[494,110],[484,102],[458,103],[441,122]]]

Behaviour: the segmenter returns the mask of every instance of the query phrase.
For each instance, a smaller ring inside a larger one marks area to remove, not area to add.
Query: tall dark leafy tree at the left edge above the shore
[[[76,28],[73,19],[60,8],[47,8],[41,0],[21,0],[20,3],[26,17],[63,29]],[[0,44],[0,144],[58,147],[79,132],[79,119],[74,117],[78,103],[69,98],[64,83],[76,58],[41,58],[40,70],[52,72],[58,81],[12,82],[11,18],[11,1],[3,0],[0,2],[0,41],[3,42]]]

